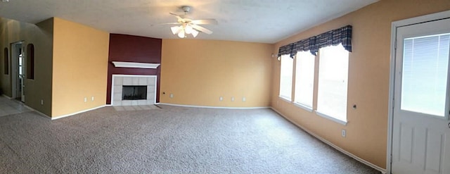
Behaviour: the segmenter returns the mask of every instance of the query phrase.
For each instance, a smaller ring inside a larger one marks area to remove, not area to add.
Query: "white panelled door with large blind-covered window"
[[[397,27],[392,173],[450,174],[450,19]]]

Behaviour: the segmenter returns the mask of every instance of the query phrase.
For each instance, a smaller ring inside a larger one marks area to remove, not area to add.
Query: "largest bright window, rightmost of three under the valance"
[[[349,52],[342,44],[319,50],[317,113],[347,123]]]

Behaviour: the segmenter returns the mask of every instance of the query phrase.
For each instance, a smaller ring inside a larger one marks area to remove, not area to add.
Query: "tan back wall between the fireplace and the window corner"
[[[160,102],[269,106],[272,49],[273,44],[163,39]],[[174,98],[169,98],[171,93]]]

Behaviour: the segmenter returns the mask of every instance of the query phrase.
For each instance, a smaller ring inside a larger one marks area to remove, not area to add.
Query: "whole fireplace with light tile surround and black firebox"
[[[139,106],[156,103],[156,75],[113,75],[111,105]]]

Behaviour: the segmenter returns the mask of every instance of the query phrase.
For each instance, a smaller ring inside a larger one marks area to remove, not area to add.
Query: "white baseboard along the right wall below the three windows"
[[[330,147],[335,148],[336,150],[342,152],[343,154],[346,154],[347,156],[352,157],[353,159],[355,159],[356,161],[359,161],[361,163],[366,164],[367,166],[374,168],[375,170],[380,171],[381,173],[385,174],[386,173],[386,169],[384,168],[380,168],[379,166],[376,166],[375,164],[366,161],[364,159],[359,158],[358,156],[350,153],[349,151],[346,151],[338,146],[336,146],[335,144],[328,142],[328,140],[323,139],[322,137],[320,137],[319,135],[314,134],[314,132],[311,132],[310,130],[307,130],[306,128],[304,128],[302,125],[299,125],[295,122],[293,122],[293,120],[290,120],[288,117],[284,116],[283,113],[281,113],[280,111],[277,111],[275,108],[271,108],[272,110],[274,110],[276,113],[280,114],[280,116],[283,116],[286,120],[290,121],[290,123],[293,123],[294,125],[297,125],[298,128],[304,130],[305,132],[308,132],[309,135],[312,135],[313,137],[316,137],[317,139],[321,140],[322,142],[324,142],[325,144],[328,144]]]

